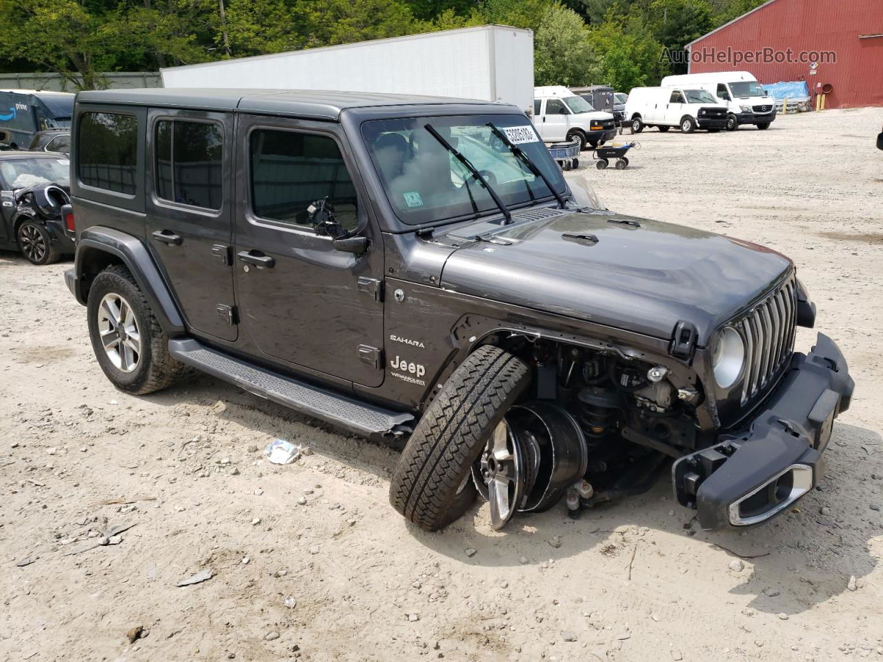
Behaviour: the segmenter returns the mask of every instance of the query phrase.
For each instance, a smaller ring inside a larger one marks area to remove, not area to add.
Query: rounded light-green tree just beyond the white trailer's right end
[[[590,85],[600,75],[600,58],[579,15],[552,5],[533,35],[533,80],[536,85]]]

